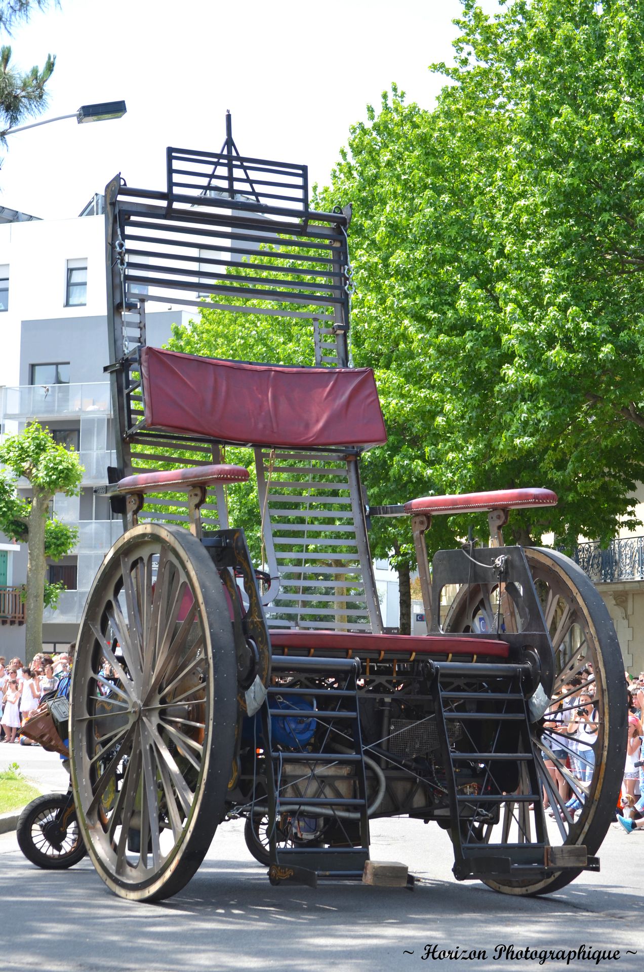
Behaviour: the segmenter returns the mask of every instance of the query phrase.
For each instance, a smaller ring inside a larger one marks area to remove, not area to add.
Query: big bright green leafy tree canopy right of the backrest
[[[644,3],[463,0],[458,26],[436,108],[393,87],[320,193],[353,202],[354,359],[394,433],[369,462],[401,499],[398,469],[550,486],[519,538],[606,540],[643,478]]]

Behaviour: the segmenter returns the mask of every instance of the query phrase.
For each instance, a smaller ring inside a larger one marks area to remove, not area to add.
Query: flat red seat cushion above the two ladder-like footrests
[[[304,648],[308,651],[381,651],[417,655],[489,655],[508,657],[506,642],[491,638],[468,638],[467,635],[371,635],[347,631],[308,631],[273,628],[270,631],[273,650]]]

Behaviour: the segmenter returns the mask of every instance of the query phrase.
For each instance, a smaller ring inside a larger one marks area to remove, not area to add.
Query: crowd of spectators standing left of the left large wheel
[[[41,699],[56,689],[69,667],[68,652],[53,656],[39,653],[29,665],[20,658],[7,662],[0,655],[0,743],[18,743],[18,729],[36,712]],[[38,745],[24,736],[19,737],[19,743]]]

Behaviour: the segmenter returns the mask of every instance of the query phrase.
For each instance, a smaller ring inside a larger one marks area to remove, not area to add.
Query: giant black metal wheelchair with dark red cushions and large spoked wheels
[[[546,489],[369,507],[360,456],[386,433],[373,372],[347,351],[350,212],[311,211],[305,167],[239,156],[228,124],[221,153],[167,150],[166,191],[120,177],[106,190],[118,469],[105,491],[125,534],[89,593],[73,672],[89,856],[117,894],[159,900],[242,815],[271,883],[314,885],[360,879],[370,819],[408,815],[428,841],[449,831],[457,879],[556,890],[598,869],[620,789],[624,667],[607,610],[562,554],[503,545],[513,508],[556,502]],[[147,340],[151,301],[297,317],[315,364],[163,351]],[[229,523],[228,486],[249,475],[226,463],[230,445],[254,450],[264,572]],[[466,533],[482,510],[490,545],[441,551],[430,570],[432,517],[463,514]],[[376,516],[411,517],[426,636],[383,632]],[[587,756],[567,731],[576,676],[595,713]]]

